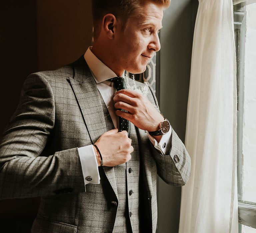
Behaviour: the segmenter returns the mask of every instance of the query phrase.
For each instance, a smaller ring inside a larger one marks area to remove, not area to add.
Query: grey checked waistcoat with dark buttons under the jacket
[[[107,131],[114,128],[108,109],[100,95]],[[114,167],[118,207],[113,232],[139,232],[139,147],[135,126],[130,123],[130,138],[134,151],[131,160]],[[113,220],[114,221],[114,220]]]

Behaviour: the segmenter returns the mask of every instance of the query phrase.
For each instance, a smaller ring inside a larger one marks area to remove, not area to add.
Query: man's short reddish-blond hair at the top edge
[[[94,39],[100,34],[100,25],[104,15],[110,13],[120,19],[124,30],[128,18],[139,12],[147,1],[163,6],[163,8],[168,8],[171,2],[171,0],[92,0]]]

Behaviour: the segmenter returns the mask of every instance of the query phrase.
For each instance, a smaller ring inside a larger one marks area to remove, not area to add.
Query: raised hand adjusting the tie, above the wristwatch
[[[116,110],[116,115],[131,121],[140,129],[156,131],[164,120],[149,100],[135,91],[120,90],[114,94],[113,100],[116,102],[116,109],[128,111]]]

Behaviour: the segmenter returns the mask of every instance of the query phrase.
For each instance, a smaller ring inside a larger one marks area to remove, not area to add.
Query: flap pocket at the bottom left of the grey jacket
[[[77,226],[57,222],[43,217],[36,217],[31,233],[76,233]]]

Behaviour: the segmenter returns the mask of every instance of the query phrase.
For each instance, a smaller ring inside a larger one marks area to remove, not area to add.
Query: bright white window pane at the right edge
[[[242,200],[256,202],[256,3],[245,9],[244,87],[240,87],[244,88],[242,154],[239,155],[243,162],[240,164],[243,166],[241,196]]]

